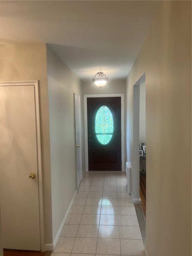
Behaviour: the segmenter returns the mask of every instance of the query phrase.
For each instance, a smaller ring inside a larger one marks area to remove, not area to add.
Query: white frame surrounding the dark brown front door
[[[87,98],[121,97],[121,161],[122,172],[125,172],[125,121],[124,93],[114,94],[84,94],[84,125],[85,125],[85,172],[88,172],[88,128],[87,128]]]

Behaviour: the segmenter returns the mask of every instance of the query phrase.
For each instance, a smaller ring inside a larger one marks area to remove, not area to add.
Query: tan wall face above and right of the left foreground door
[[[40,103],[41,154],[44,199],[45,243],[52,243],[49,110],[46,44],[1,46],[0,81],[38,80]]]

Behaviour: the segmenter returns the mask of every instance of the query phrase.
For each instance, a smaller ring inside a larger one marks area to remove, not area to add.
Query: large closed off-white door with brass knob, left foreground
[[[34,87],[0,84],[0,200],[3,248],[40,251]]]

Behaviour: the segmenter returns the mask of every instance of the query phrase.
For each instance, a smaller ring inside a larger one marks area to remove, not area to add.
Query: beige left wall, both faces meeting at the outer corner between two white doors
[[[82,101],[81,81],[41,43],[2,45],[0,65],[1,81],[38,80],[44,233],[45,244],[52,244],[76,190],[73,92]]]

